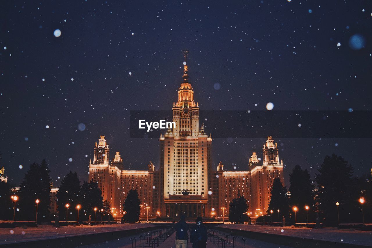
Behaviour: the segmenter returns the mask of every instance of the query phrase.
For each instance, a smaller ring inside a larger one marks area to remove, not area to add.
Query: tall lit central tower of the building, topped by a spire
[[[183,82],[172,108],[176,126],[160,136],[163,200],[166,215],[171,217],[205,216],[208,203],[212,138],[206,135],[203,124],[199,128],[199,104],[189,83],[188,53],[183,51]]]

